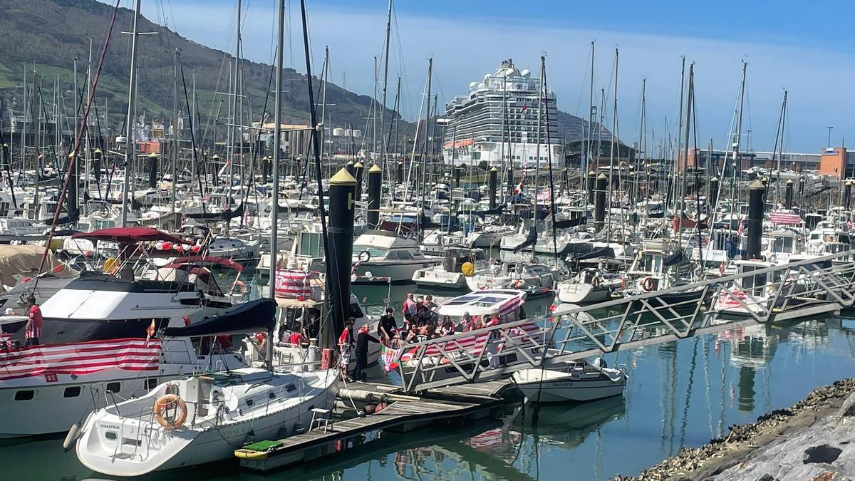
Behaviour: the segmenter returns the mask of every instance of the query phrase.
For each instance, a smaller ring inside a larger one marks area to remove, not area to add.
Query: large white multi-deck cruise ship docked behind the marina
[[[517,69],[510,59],[503,61],[495,73],[484,75],[484,80],[471,82],[469,94],[445,104],[445,163],[486,161],[491,165],[506,165],[513,160],[516,166],[534,167],[538,157],[539,90],[540,79],[532,78],[528,69]],[[505,132],[510,132],[510,137],[502,135],[503,99]],[[540,115],[540,161],[545,165],[551,152],[553,167],[563,167],[555,92],[546,92]]]

